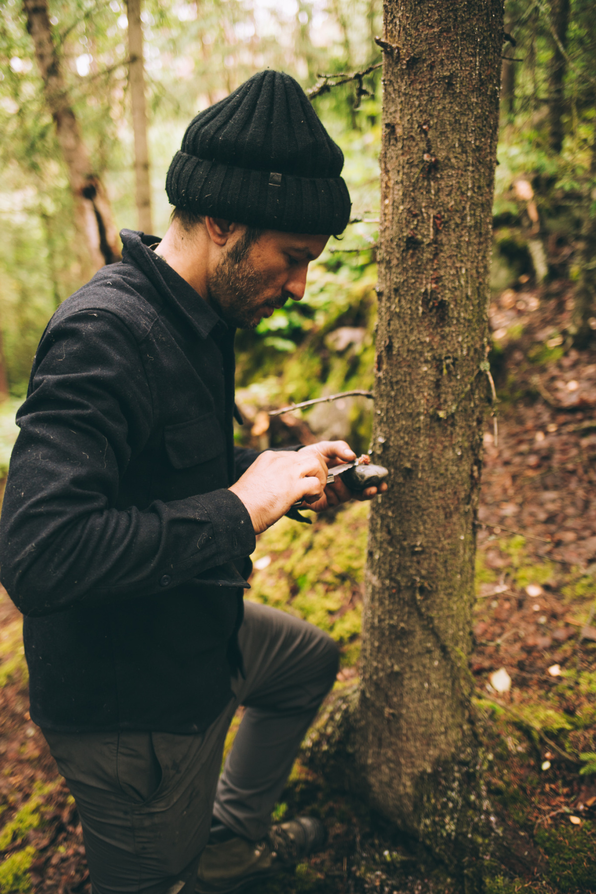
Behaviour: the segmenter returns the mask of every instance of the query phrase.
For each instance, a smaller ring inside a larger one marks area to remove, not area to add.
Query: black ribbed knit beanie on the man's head
[[[259,72],[190,122],[165,190],[172,205],[266,230],[332,234],[349,220],[343,153],[298,82]]]

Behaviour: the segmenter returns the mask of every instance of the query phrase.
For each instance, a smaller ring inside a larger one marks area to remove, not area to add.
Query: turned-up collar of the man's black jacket
[[[147,236],[134,230],[122,230],[120,238],[124,248],[122,261],[139,267],[159,294],[178,310],[197,335],[207,338],[218,324],[227,329],[222,318],[206,300],[201,298],[198,292],[182,279],[167,261],[164,261],[163,257],[156,255],[155,251],[149,248],[161,241],[157,236]]]

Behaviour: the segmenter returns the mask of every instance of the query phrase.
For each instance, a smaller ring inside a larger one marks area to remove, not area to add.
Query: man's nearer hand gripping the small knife
[[[353,460],[353,451],[348,448],[348,453]],[[255,534],[262,534],[295,502],[321,502],[326,481],[327,465],[320,451],[264,451],[230,490],[246,506]]]

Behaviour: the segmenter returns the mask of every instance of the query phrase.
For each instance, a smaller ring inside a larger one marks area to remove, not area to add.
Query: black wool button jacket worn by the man
[[[31,718],[49,730],[205,730],[241,668],[255,534],[228,490],[234,333],[123,231],[56,311],[19,410],[0,577],[26,616]]]

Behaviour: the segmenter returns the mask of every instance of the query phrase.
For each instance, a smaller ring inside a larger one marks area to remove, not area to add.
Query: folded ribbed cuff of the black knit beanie
[[[340,233],[350,214],[341,177],[298,177],[206,161],[172,158],[165,190],[172,205],[196,215],[282,232]]]

